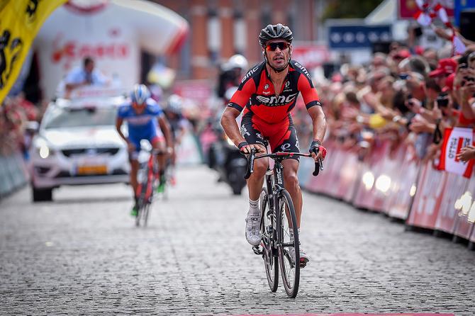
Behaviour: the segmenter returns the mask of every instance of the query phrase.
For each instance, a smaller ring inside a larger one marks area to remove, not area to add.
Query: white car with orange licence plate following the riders
[[[33,201],[64,185],[129,181],[125,142],[116,131],[123,96],[58,98],[47,107],[31,149]]]

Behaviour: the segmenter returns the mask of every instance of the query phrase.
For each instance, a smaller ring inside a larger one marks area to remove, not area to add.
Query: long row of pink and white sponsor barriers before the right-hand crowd
[[[303,188],[475,242],[475,178],[421,164],[412,147],[391,148],[389,141],[379,142],[364,162],[338,142],[325,145],[325,170],[318,177],[310,176],[313,162],[301,164]]]

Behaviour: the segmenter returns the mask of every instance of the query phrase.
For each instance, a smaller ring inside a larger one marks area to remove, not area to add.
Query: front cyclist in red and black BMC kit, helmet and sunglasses
[[[264,140],[269,142],[272,152],[298,152],[298,138],[292,122],[291,111],[301,92],[308,114],[313,122],[313,142],[310,145],[315,162],[325,159],[326,149],[322,146],[326,120],[318,94],[307,69],[291,60],[293,35],[289,27],[282,24],[268,25],[259,34],[264,61],[252,67],[242,79],[238,91],[231,98],[221,118],[226,134],[244,154],[251,149],[265,153]],[[242,113],[241,128],[236,118]],[[286,159],[284,184],[289,191],[294,207],[298,229],[302,213],[302,193],[298,185],[298,158]],[[252,245],[261,241],[259,234],[259,195],[264,184],[264,175],[269,167],[267,159],[255,161],[255,169],[247,180],[250,208],[246,218],[246,239]],[[292,236],[291,236],[292,237]],[[300,248],[301,261],[308,262],[307,254]]]

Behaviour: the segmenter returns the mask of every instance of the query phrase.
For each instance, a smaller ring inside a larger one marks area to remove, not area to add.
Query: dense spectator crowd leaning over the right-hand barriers
[[[465,52],[454,55],[451,47],[394,42],[367,65],[342,64],[329,79],[316,79],[328,138],[357,150],[360,159],[389,140],[394,148],[408,145],[418,161],[437,163],[446,128],[475,126],[475,45],[464,43]],[[299,137],[311,135],[305,107],[295,112]],[[474,159],[475,147],[464,147],[458,158]]]

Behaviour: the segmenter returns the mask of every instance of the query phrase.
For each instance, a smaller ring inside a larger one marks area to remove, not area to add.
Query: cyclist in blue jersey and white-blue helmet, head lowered
[[[128,128],[127,137],[121,131],[124,121],[127,123]],[[147,140],[154,149],[158,149],[160,152],[170,152],[173,147],[172,133],[162,108],[156,101],[150,98],[150,91],[144,84],[136,84],[130,93],[130,101],[127,101],[118,108],[116,129],[128,145],[130,184],[135,198],[131,215],[137,215],[137,172],[139,167],[140,141]],[[162,191],[167,154],[159,154],[157,159],[160,173],[158,190]]]

